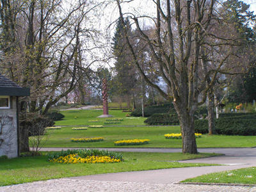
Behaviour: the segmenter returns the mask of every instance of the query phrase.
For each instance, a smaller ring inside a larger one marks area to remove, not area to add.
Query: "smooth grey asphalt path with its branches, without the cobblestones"
[[[67,150],[67,148],[42,148],[43,151]],[[70,148],[71,149],[71,148]],[[118,152],[181,152],[180,148],[100,148]],[[180,163],[212,163],[224,164],[221,166],[202,166],[188,168],[173,168],[163,170],[148,170],[140,172],[108,173],[101,175],[87,175],[74,177],[85,180],[115,180],[129,182],[147,182],[152,184],[170,184],[180,180],[204,175],[206,173],[221,172],[256,166],[256,148],[198,148],[199,152],[225,154],[225,156],[208,157],[179,161]]]

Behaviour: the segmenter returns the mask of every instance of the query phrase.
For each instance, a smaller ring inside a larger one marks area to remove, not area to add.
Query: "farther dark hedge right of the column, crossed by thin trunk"
[[[166,103],[159,106],[149,106],[144,108],[144,116],[148,117],[155,113],[170,113],[173,112],[173,104]],[[141,108],[132,111],[131,116],[142,116]]]

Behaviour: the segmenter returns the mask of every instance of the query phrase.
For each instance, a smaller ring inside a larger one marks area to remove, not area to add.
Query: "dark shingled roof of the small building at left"
[[[29,88],[22,88],[10,79],[0,74],[0,95],[8,96],[29,96]]]

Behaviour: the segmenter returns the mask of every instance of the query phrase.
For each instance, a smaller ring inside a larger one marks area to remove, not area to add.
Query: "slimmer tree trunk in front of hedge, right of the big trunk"
[[[212,92],[208,93],[208,127],[209,134],[215,133],[215,114],[214,114],[214,95]]]

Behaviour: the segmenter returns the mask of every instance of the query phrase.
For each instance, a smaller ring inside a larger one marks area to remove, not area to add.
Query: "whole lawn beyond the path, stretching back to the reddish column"
[[[65,115],[64,120],[57,121],[55,125],[69,125],[62,127],[61,130],[47,131],[48,139],[43,147],[126,147],[115,146],[114,141],[131,139],[148,139],[147,145],[129,147],[160,147],[160,148],[181,148],[181,140],[167,140],[164,138],[166,133],[180,133],[179,126],[148,126],[143,122],[146,118],[125,117],[126,113],[120,110],[109,110],[109,114],[115,118],[123,118],[120,124],[113,127],[104,125],[106,118],[97,118],[102,115],[102,110],[70,110],[61,111]],[[97,122],[90,122],[97,120]],[[88,128],[84,131],[73,131],[71,125],[103,125],[104,128]],[[134,127],[125,127],[134,125]],[[136,127],[143,125],[143,127]],[[70,138],[95,138],[103,137],[104,141],[99,143],[72,143]],[[202,138],[196,139],[197,147],[255,147],[256,136],[225,136],[205,134]]]

